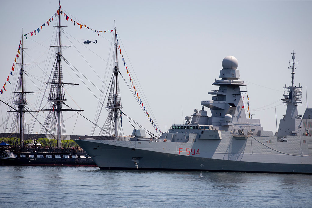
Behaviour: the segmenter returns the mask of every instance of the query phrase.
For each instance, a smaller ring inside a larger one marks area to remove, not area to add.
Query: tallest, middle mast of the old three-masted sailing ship
[[[61,14],[61,6],[59,7],[59,13]],[[51,109],[42,109],[46,111],[53,111],[56,117],[56,133],[57,133],[57,147],[61,147],[61,135],[62,133],[65,133],[61,130],[61,123],[64,123],[63,121],[63,111],[82,111],[77,109],[62,109],[64,102],[66,101],[65,97],[65,89],[64,85],[77,85],[73,83],[64,83],[63,82],[63,73],[62,73],[62,65],[61,65],[61,48],[64,47],[61,45],[61,15],[59,16],[59,25],[55,26],[58,27],[58,45],[57,46],[51,46],[51,47],[57,47],[58,51],[56,53],[56,65],[54,68],[54,74],[52,78],[52,82],[46,82],[46,84],[51,84],[50,93],[48,96],[48,101],[51,102]],[[49,120],[49,119],[47,119]],[[48,130],[46,129],[46,132]]]

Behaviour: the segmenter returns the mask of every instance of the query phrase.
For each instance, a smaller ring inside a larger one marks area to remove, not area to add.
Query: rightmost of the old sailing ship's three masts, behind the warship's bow
[[[116,52],[116,60],[115,60],[112,82],[110,85],[110,94],[109,94],[106,108],[111,109],[109,117],[111,117],[112,122],[113,122],[113,128],[114,128],[113,132],[114,132],[115,139],[118,139],[118,136],[119,136],[118,119],[119,119],[119,112],[122,109],[122,105],[121,105],[121,96],[120,96],[119,81],[118,81],[119,65],[118,65],[118,46],[117,46],[116,27],[115,27],[115,52]]]

